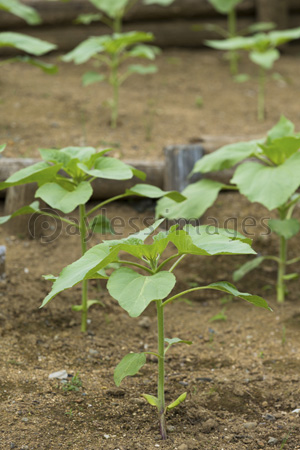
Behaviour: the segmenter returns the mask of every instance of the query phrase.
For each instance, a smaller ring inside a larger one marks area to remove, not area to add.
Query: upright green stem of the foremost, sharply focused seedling
[[[165,418],[165,336],[164,336],[164,310],[162,301],[156,301],[157,329],[158,329],[158,416],[160,434],[162,439],[167,439]]]

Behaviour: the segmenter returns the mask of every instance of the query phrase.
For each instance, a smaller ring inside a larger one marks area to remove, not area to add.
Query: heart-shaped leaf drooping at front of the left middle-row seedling
[[[93,189],[90,183],[82,181],[71,191],[57,183],[46,183],[36,191],[35,197],[43,199],[52,208],[68,214],[77,206],[85,204],[92,194]]]

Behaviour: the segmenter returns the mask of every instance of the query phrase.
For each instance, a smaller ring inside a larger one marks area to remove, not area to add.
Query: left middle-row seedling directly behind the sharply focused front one
[[[0,147],[0,151],[5,146]],[[0,190],[10,186],[24,185],[32,182],[38,184],[38,190],[35,196],[41,198],[49,206],[69,214],[79,207],[79,224],[70,221],[67,218],[59,217],[49,213],[48,210],[39,209],[39,203],[34,202],[29,206],[25,206],[11,216],[0,218],[0,224],[7,222],[10,218],[22,214],[44,214],[46,216],[55,217],[62,220],[73,227],[76,227],[80,234],[81,253],[87,250],[87,236],[89,233],[111,233],[113,232],[111,224],[106,216],[101,214],[92,216],[103,206],[132,195],[146,196],[151,198],[159,198],[163,195],[169,195],[178,201],[184,199],[177,192],[164,192],[159,188],[147,184],[137,184],[130,190],[126,190],[124,194],[111,197],[89,211],[86,210],[86,203],[93,194],[91,183],[96,178],[107,180],[128,180],[134,175],[145,179],[145,174],[134,169],[122,161],[105,156],[110,149],[105,149],[97,153],[92,147],[67,147],[61,150],[43,149],[40,150],[43,162],[34,164],[33,166],[22,169],[4,183],[0,183]],[[63,171],[63,173],[61,173]],[[99,275],[99,278],[105,277],[105,273]],[[53,275],[45,277],[53,280]],[[81,331],[87,329],[88,309],[99,304],[97,300],[88,300],[88,283],[87,280],[82,282],[82,300],[80,305],[73,306],[75,311],[81,311]]]

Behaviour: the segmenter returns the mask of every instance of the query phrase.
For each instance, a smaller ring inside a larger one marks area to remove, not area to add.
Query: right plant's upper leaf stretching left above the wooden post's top
[[[237,142],[221,147],[196,162],[192,174],[230,169],[257,152],[258,141]]]

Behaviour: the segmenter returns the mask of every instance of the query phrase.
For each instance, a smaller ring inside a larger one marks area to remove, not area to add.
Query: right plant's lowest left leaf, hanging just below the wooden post
[[[168,219],[198,219],[214,203],[224,185],[212,180],[200,180],[187,186],[182,195],[186,200],[177,203],[162,198],[156,207],[156,216]]]

